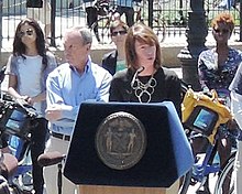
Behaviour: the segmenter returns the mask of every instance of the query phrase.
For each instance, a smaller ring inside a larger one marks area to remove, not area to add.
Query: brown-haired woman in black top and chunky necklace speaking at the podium
[[[117,72],[110,86],[110,101],[172,101],[180,116],[182,86],[175,72],[162,66],[158,39],[151,28],[134,24],[125,39],[128,68]]]

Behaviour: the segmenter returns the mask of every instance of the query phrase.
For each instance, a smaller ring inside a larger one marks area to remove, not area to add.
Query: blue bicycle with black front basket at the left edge
[[[0,137],[8,134],[8,146],[18,160],[16,171],[8,179],[9,186],[16,194],[33,190],[32,162],[30,159],[31,129],[35,127],[36,112],[21,101],[0,100]]]

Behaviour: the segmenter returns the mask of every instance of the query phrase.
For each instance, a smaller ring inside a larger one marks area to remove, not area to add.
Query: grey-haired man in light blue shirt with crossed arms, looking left
[[[46,118],[51,130],[46,151],[67,153],[79,106],[82,101],[108,101],[112,76],[91,62],[91,32],[86,28],[72,28],[64,36],[66,62],[53,71],[46,82]],[[47,194],[57,193],[56,166],[45,168]],[[63,193],[78,190],[64,177]]]

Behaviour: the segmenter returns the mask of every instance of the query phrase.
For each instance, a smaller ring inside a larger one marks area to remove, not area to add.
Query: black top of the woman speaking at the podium
[[[139,98],[135,96],[134,89],[131,87],[134,72],[129,69],[118,72],[111,82],[110,86],[110,101],[123,101],[123,103],[139,103]],[[150,79],[144,76],[143,78]],[[157,85],[154,88],[154,93],[151,94],[150,103],[162,103],[165,100],[173,101],[176,110],[182,116],[182,87],[180,79],[174,71],[165,67],[160,67],[153,76]],[[142,78],[142,77],[141,77]]]

